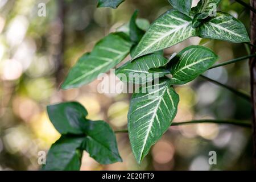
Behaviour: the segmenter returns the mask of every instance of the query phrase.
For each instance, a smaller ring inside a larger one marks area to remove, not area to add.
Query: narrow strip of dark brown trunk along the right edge
[[[251,0],[251,6],[256,9],[256,0]],[[251,11],[251,44],[256,44],[256,14]],[[255,53],[256,48],[251,46],[251,54]],[[253,159],[256,169],[256,59],[252,57],[249,61],[251,76],[251,99],[253,104]]]

